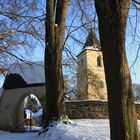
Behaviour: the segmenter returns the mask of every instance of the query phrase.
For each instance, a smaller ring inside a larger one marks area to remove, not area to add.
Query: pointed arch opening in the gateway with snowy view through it
[[[25,97],[21,104],[22,116],[25,131],[39,131],[43,126],[43,106],[42,101],[33,93]]]

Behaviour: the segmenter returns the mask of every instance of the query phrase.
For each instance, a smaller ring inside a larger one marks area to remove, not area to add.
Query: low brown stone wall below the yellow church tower
[[[107,119],[108,105],[103,101],[72,101],[66,102],[66,109],[71,119]],[[140,119],[140,104],[136,104]]]

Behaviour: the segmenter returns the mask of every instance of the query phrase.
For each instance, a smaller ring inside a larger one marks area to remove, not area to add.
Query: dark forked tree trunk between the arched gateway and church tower
[[[55,2],[55,0],[48,0],[46,5],[45,86],[47,107],[44,127],[54,120],[66,117],[62,50],[69,0],[57,0],[57,4]],[[56,11],[55,14],[54,11]]]

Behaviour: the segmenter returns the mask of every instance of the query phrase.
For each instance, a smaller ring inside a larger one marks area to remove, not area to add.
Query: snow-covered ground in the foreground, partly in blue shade
[[[140,121],[138,121],[140,129]],[[72,120],[71,125],[59,123],[47,133],[10,133],[0,131],[0,140],[110,140],[108,120]]]

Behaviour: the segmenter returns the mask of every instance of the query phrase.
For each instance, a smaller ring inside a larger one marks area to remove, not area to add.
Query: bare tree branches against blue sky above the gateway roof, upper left
[[[10,63],[26,61],[37,45],[43,44],[43,18],[36,0],[0,2],[0,71]],[[25,56],[26,55],[26,56]]]

